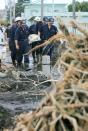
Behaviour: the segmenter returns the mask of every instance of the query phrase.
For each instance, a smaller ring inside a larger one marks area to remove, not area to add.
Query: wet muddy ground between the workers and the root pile
[[[11,64],[9,53],[5,64]],[[6,77],[0,77],[0,131],[13,125],[13,116],[38,108],[46,92],[52,90],[47,81],[50,74],[55,80],[61,75],[53,65],[33,64],[30,57],[30,70],[8,70]]]

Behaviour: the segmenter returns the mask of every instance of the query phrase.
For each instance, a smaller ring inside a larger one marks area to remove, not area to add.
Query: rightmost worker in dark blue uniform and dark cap
[[[58,32],[57,27],[55,25],[53,25],[53,23],[54,23],[54,19],[48,18],[47,24],[42,26],[42,28],[40,29],[40,37],[43,42],[48,40],[50,37],[57,34],[57,32]],[[43,55],[47,54],[51,58],[53,48],[54,48],[53,44],[45,46],[43,49]]]

